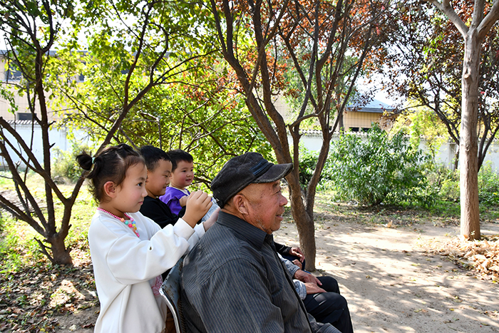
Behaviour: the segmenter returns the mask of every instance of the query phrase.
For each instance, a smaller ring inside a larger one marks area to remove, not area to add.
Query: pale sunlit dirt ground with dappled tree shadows
[[[498,223],[481,225],[498,235]],[[458,226],[386,227],[324,221],[316,230],[316,275],[338,280],[356,333],[499,332],[499,285],[463,270],[428,245]],[[298,245],[296,226],[283,223],[275,239]],[[93,332],[98,309],[57,317],[58,332]],[[87,328],[82,328],[87,327]]]

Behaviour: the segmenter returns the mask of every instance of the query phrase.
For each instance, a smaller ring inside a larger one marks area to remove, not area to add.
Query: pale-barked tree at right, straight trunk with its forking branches
[[[461,79],[461,133],[459,138],[461,235],[469,237],[471,240],[479,240],[477,128],[480,53],[485,36],[499,19],[499,0],[494,0],[492,6],[485,0],[476,0],[470,21],[463,21],[464,18],[456,13],[449,0],[428,1],[446,14],[464,40],[463,76]],[[456,8],[458,7],[456,6]],[[486,14],[485,10],[488,11]]]

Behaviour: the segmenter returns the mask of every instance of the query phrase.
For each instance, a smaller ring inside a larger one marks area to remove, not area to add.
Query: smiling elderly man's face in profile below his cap
[[[281,181],[250,184],[241,191],[249,202],[247,222],[267,234],[279,229],[287,199],[281,193]]]

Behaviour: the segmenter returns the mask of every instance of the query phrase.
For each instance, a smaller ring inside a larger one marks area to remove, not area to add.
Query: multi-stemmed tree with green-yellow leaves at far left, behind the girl
[[[0,152],[11,171],[22,207],[2,195],[0,195],[0,203],[14,217],[24,220],[44,237],[43,241],[37,240],[38,244],[41,246],[41,251],[54,263],[71,264],[72,262],[70,249],[65,247],[64,239],[71,227],[69,225],[71,208],[83,184],[85,174],[83,173],[78,179],[69,197],[63,195],[51,179],[52,146],[48,130],[54,123],[48,116],[49,98],[46,92],[50,91],[53,96],[60,93],[58,87],[71,86],[76,95],[71,95],[66,91],[65,97],[68,98],[67,101],[71,101],[71,98],[77,99],[78,84],[74,78],[81,73],[78,72],[81,69],[79,66],[93,59],[89,53],[79,52],[77,34],[80,26],[93,26],[96,29],[91,31],[93,36],[91,43],[96,51],[93,54],[101,60],[107,59],[103,63],[93,63],[95,76],[100,77],[102,81],[106,81],[109,76],[120,76],[120,80],[117,81],[119,83],[110,87],[115,97],[115,103],[112,106],[101,104],[101,101],[93,99],[96,95],[80,99],[80,101],[85,101],[84,105],[88,109],[106,115],[106,121],[98,123],[106,128],[98,151],[103,149],[113,140],[115,133],[121,130],[123,119],[138,101],[151,88],[165,83],[170,76],[177,73],[175,67],[169,68],[163,64],[170,45],[175,45],[169,39],[170,30],[175,29],[175,24],[170,21],[169,26],[162,26],[156,21],[157,14],[161,13],[163,6],[166,5],[168,3],[161,1],[148,3],[90,1],[78,4],[74,1],[46,0],[23,3],[0,2],[0,31],[4,32],[9,48],[6,56],[8,62],[17,66],[22,73],[18,88],[25,91],[34,124],[41,127],[43,142],[43,161],[38,161],[31,151],[34,138],[31,138],[31,144],[26,142],[16,133],[15,128],[0,118]],[[81,12],[77,12],[78,10]],[[130,21],[134,23],[128,26],[125,21],[130,19],[130,16],[133,18]],[[122,25],[118,26],[117,21],[112,25],[108,24],[113,18],[117,18]],[[68,20],[71,20],[73,26],[67,27]],[[101,23],[101,25],[95,26],[92,25],[93,23]],[[114,35],[119,29],[123,29],[123,26],[128,34]],[[69,36],[69,38],[63,40],[62,36]],[[57,51],[53,51],[54,49]],[[88,57],[82,58],[83,56]],[[147,66],[139,67],[140,63],[145,63]],[[146,73],[145,76],[144,73]],[[136,79],[136,76],[139,76],[140,80]],[[4,87],[2,95],[10,98],[11,105],[16,108],[9,88]],[[81,108],[77,111],[84,112],[88,109]],[[83,113],[83,116],[88,116],[88,113]],[[88,120],[92,121],[92,118],[88,116]],[[14,163],[15,156],[26,165],[24,175],[19,165]],[[33,170],[46,182],[46,213],[26,186],[28,170]],[[60,220],[56,216],[56,200],[63,205]],[[34,210],[33,215],[30,206]],[[57,228],[59,223],[60,227]]]

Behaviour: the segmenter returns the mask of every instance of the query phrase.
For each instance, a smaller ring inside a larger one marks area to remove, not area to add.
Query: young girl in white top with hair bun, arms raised
[[[215,219],[196,225],[211,205],[198,191],[189,199],[200,216],[178,220],[164,229],[138,210],[148,195],[145,163],[129,145],[108,147],[91,157],[76,157],[90,170],[93,197],[99,204],[88,230],[101,312],[95,332],[160,333],[166,304],[160,297],[161,273],[170,269],[205,233]]]

